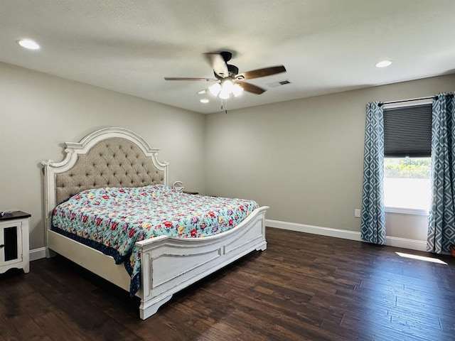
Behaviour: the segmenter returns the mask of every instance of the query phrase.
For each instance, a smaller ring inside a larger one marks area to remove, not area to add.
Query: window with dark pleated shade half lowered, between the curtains
[[[387,211],[428,211],[432,103],[384,107],[384,203]]]

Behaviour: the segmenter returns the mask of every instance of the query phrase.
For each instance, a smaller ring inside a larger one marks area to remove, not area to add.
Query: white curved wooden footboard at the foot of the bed
[[[138,242],[141,247],[142,319],[192,283],[255,250],[267,249],[265,212],[259,207],[228,232],[199,239],[156,237]]]

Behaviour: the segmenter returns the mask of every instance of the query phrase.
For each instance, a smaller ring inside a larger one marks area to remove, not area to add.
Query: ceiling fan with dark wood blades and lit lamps
[[[215,75],[215,78],[164,77],[164,79],[203,80],[206,82],[216,82],[211,85],[208,90],[221,99],[228,99],[230,94],[234,94],[234,96],[237,97],[243,90],[252,92],[253,94],[262,94],[266,91],[262,87],[257,87],[249,82],[245,82],[245,80],[252,80],[253,78],[286,72],[286,68],[283,65],[277,65],[239,73],[237,66],[228,64],[228,61],[232,58],[232,53],[222,51],[220,53],[204,53],[204,55],[205,59],[213,69],[213,75]]]

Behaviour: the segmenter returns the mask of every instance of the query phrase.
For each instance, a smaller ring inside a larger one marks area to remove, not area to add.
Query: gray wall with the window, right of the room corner
[[[270,206],[271,220],[359,232],[366,103],[454,90],[448,75],[210,114],[208,194],[250,197]],[[387,217],[387,235],[424,239],[413,229],[427,217],[399,218]]]

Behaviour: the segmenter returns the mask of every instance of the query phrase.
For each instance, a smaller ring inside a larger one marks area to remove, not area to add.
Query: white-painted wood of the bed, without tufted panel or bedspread
[[[153,183],[168,185],[168,163],[158,161],[156,156],[159,149],[151,148],[141,136],[132,131],[122,128],[101,129],[85,136],[79,143],[67,142],[65,144],[66,156],[63,161],[57,163],[49,160],[42,163],[45,186],[44,216],[47,227],[46,247],[48,256],[56,252],[129,291],[130,278],[123,264],[117,265],[112,256],[102,254],[100,251],[50,230],[51,213],[58,204],[57,175],[67,174],[76,166],[79,156],[87,157],[91,148],[107,139],[124,139],[138,146],[156,168],[156,172],[161,174],[160,180],[154,179]],[[112,183],[97,183],[96,187],[108,185],[115,186]],[[134,186],[124,185],[124,187]],[[163,236],[137,242],[137,246],[141,249],[141,288],[137,292],[137,296],[141,299],[139,306],[141,318],[146,319],[154,315],[161,305],[171,299],[173,293],[251,251],[265,250],[267,248],[265,213],[268,208],[267,206],[257,208],[237,227],[212,237],[182,239]]]

